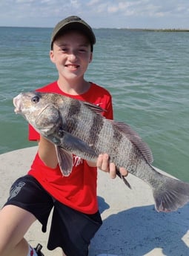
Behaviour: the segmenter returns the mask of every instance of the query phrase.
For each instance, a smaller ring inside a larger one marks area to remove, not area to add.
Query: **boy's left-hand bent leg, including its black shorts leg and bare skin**
[[[0,211],[0,255],[27,256],[29,245],[24,234],[36,220],[46,232],[53,199],[30,175],[20,177],[10,188],[10,197]],[[34,254],[35,255],[35,254]],[[42,255],[42,252],[38,252]]]

